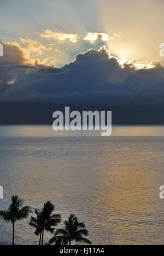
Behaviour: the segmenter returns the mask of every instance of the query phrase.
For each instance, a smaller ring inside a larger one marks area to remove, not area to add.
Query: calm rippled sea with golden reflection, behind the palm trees
[[[112,137],[0,126],[0,210],[12,194],[33,209],[50,200],[63,220],[74,213],[86,224],[93,245],[163,245],[163,136],[163,126],[117,126]],[[38,244],[28,221],[16,224],[18,245]],[[11,228],[0,220],[1,245]],[[45,242],[51,237],[45,232]]]

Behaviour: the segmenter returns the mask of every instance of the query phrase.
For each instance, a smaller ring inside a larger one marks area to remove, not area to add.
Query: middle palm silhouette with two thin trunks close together
[[[52,214],[54,210],[54,205],[52,205],[52,203],[48,201],[44,204],[42,210],[35,210],[37,218],[31,218],[31,222],[29,224],[36,228],[35,234],[40,235],[39,245],[40,243],[43,245],[44,230],[49,231],[51,232],[51,234],[53,234],[54,228],[52,227],[57,226],[58,223],[61,222],[60,214]]]

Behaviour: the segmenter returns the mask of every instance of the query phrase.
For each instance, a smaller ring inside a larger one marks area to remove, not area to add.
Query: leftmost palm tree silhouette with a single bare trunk
[[[18,220],[22,220],[28,217],[28,215],[32,212],[29,206],[25,206],[23,208],[22,205],[24,203],[17,195],[11,196],[11,204],[8,208],[8,211],[0,211],[0,217],[3,218],[7,222],[11,222],[13,224],[13,244],[14,245],[14,235],[15,235],[15,222]]]

